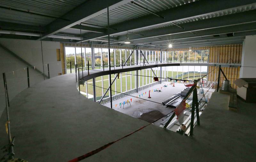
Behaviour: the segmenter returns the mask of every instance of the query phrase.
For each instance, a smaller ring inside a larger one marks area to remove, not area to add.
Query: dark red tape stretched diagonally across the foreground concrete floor
[[[174,111],[174,110],[173,110],[173,111]],[[168,113],[168,114],[171,114],[173,111],[171,111],[171,112]],[[166,114],[166,115],[168,115],[168,114]],[[164,116],[166,116],[166,115],[164,115]],[[163,116],[163,117],[164,117],[164,116]],[[161,118],[163,118],[163,117],[161,117]],[[161,119],[161,118],[159,118],[159,119]],[[154,122],[158,121],[159,119],[155,120]],[[154,122],[152,122],[152,123],[154,123]],[[72,160],[69,160],[68,162],[77,162],[77,161],[83,160],[83,159],[85,159],[85,158],[88,158],[88,157],[90,157],[90,156],[92,156],[92,155],[94,155],[94,154],[96,154],[96,153],[98,153],[98,152],[100,152],[100,151],[102,151],[102,150],[108,148],[109,146],[111,146],[112,144],[116,143],[117,141],[119,141],[119,140],[121,140],[121,139],[123,139],[123,138],[125,138],[125,137],[128,137],[128,136],[132,135],[133,133],[138,132],[139,130],[141,130],[141,129],[147,127],[147,126],[149,126],[149,125],[152,124],[152,123],[149,123],[148,125],[145,125],[145,126],[139,128],[139,129],[133,131],[132,133],[129,133],[128,135],[123,136],[122,138],[117,139],[116,141],[113,141],[113,142],[110,142],[110,143],[108,143],[108,144],[105,144],[104,146],[101,146],[101,147],[99,147],[98,149],[95,149],[95,150],[93,150],[93,151],[90,151],[90,152],[88,152],[88,153],[82,155],[82,156],[79,156],[79,157],[77,157],[77,158],[74,158],[74,159],[72,159]]]

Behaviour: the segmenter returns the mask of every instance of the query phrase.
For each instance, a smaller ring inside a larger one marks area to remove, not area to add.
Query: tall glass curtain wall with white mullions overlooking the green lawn
[[[192,51],[152,51],[152,50],[138,50],[138,57],[136,57],[136,52],[131,49],[110,49],[110,64],[111,67],[122,67],[127,59],[127,62],[123,66],[131,66],[137,63],[136,58],[138,58],[138,64],[143,66],[143,61],[146,58],[148,63],[160,63],[160,55],[162,54],[163,63],[207,63],[209,50],[192,50]],[[108,49],[107,48],[93,48],[94,52],[94,68],[101,69],[108,68]],[[128,56],[131,57],[128,58]],[[65,47],[66,54],[66,67],[67,73],[75,73],[75,64],[77,67],[82,67],[87,69],[87,63],[89,61],[89,68],[92,69],[92,49],[81,47]],[[83,61],[83,62],[82,62]],[[71,62],[71,66],[70,66]],[[145,64],[147,62],[145,61]],[[169,66],[162,67],[162,77],[171,77],[177,79],[188,79],[194,80],[203,76],[207,73],[206,66]],[[119,93],[124,93],[135,89],[136,87],[136,76],[135,71],[128,71],[119,74],[119,79],[116,79],[112,84],[112,95],[117,95]],[[154,83],[153,77],[160,77],[160,67],[151,69],[138,70],[138,84],[139,87]],[[114,80],[116,74],[111,75],[111,81]],[[100,98],[105,93],[111,84],[109,76],[101,76],[95,78],[96,81],[96,100]],[[103,87],[103,88],[102,88]],[[81,92],[84,96],[89,99],[93,99],[93,86],[92,79],[88,80],[84,86],[81,86]],[[109,92],[104,98],[109,97]]]

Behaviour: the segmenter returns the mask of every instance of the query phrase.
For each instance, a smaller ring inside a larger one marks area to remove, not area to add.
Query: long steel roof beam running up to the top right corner
[[[178,7],[167,9],[164,11],[157,12],[159,15],[163,15],[165,19],[159,18],[153,14],[142,16],[140,18],[135,18],[132,20],[119,23],[111,28],[116,28],[117,30],[111,30],[110,34],[123,33],[126,31],[131,31],[134,29],[143,29],[145,27],[156,26],[160,24],[171,23],[175,21],[185,20],[188,18],[195,18],[198,16],[204,16],[211,14],[216,11],[221,11],[229,8],[234,8],[238,6],[248,5],[255,3],[255,0],[200,0],[192,3],[184,4]],[[100,33],[88,33],[84,34],[86,40],[93,38],[100,38],[107,36],[106,34]],[[84,40],[84,41],[86,41]]]

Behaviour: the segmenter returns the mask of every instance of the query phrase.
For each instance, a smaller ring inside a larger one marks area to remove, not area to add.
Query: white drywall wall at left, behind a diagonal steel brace
[[[40,41],[0,39],[0,43],[11,50],[23,60],[35,66],[36,69],[43,72],[42,52]],[[61,62],[57,61],[56,49],[60,48],[60,42],[43,41],[44,71],[48,76],[47,63],[49,63],[50,77],[58,76],[61,73]],[[28,87],[27,69],[28,65],[17,59],[0,47],[0,116],[5,107],[5,93],[3,74],[6,73],[9,100],[15,98],[22,90]],[[13,72],[12,72],[13,71]],[[36,84],[44,80],[42,74],[29,68],[30,85]],[[47,77],[45,77],[47,79]],[[5,115],[5,114],[3,114]]]

